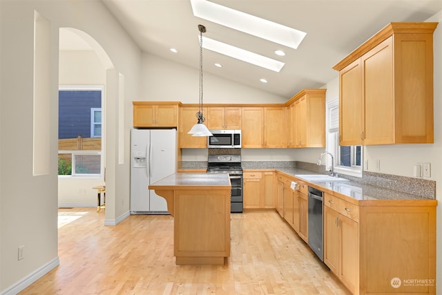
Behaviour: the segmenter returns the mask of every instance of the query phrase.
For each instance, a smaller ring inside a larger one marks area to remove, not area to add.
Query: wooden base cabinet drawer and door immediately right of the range
[[[244,192],[244,209],[260,209],[262,208],[260,200],[264,193],[264,182],[262,181],[261,172],[244,173],[243,192]]]

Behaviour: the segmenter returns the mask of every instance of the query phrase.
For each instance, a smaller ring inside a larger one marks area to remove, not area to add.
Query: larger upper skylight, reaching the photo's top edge
[[[306,32],[261,19],[206,0],[191,0],[193,15],[222,26],[266,39],[290,48],[298,48]]]

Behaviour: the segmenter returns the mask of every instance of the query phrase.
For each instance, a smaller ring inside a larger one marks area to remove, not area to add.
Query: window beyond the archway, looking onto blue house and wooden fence
[[[102,174],[102,88],[59,89],[58,174]]]

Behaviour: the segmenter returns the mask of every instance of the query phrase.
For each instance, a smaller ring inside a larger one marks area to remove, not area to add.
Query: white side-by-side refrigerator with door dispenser
[[[148,185],[177,171],[175,129],[131,129],[131,214],[169,214]]]

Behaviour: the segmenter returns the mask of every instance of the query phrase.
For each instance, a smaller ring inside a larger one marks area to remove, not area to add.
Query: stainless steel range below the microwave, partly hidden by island
[[[229,173],[232,185],[230,211],[242,213],[242,167],[240,155],[209,155],[207,173]]]

